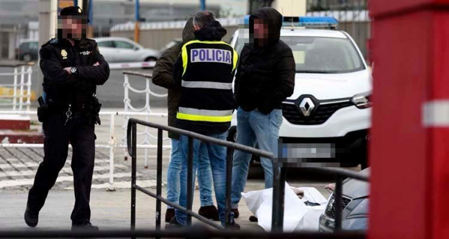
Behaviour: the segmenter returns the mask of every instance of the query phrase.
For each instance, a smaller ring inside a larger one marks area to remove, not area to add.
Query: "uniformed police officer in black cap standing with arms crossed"
[[[109,66],[94,40],[86,39],[87,17],[81,8],[63,8],[58,16],[57,38],[40,49],[44,75],[44,99],[40,99],[39,120],[43,121],[44,158],[29,190],[25,222],[35,227],[48,191],[54,185],[73,147],[71,167],[75,190],[72,230],[98,230],[90,223],[90,188],[95,158],[94,125],[100,123],[101,105],[96,86],[109,78]]]

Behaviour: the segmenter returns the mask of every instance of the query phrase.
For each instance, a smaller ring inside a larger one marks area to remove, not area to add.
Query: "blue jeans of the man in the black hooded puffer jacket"
[[[250,147],[258,147],[261,150],[277,153],[277,140],[279,138],[279,127],[282,123],[282,110],[273,110],[265,115],[258,110],[246,112],[241,108],[237,110],[237,140],[239,144]],[[232,209],[238,207],[241,192],[245,189],[248,176],[251,154],[239,150],[234,151],[232,166]],[[271,159],[260,158],[265,173],[265,188],[273,187],[273,164]]]

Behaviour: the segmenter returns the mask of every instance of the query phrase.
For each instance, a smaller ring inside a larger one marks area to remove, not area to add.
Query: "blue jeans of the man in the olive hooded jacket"
[[[183,166],[183,154],[178,139],[172,138],[172,153],[167,170],[167,200],[179,204],[179,178]],[[198,185],[200,186],[201,206],[212,206],[212,170],[209,155],[206,150],[200,153],[200,166],[198,167]],[[167,208],[172,208],[167,206]]]

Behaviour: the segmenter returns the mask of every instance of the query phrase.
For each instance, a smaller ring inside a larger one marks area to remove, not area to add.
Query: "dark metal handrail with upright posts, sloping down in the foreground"
[[[137,161],[137,148],[136,148],[136,137],[137,137],[137,125],[143,125],[146,127],[152,127],[158,129],[158,152],[157,152],[157,179],[156,179],[156,193],[150,192],[136,183],[136,161]],[[187,208],[181,207],[178,204],[174,204],[169,202],[167,199],[162,197],[162,133],[163,131],[169,131],[173,133],[177,133],[180,135],[188,136],[189,138],[189,151],[188,151],[188,176],[187,176]],[[192,211],[192,199],[193,199],[193,188],[192,185],[192,177],[193,177],[193,140],[198,139],[203,142],[212,143],[216,145],[225,146],[228,149],[241,150],[248,153],[252,153],[257,156],[273,158],[270,152],[262,151],[259,149],[255,149],[252,147],[244,146],[241,144],[220,140],[217,138],[205,136],[202,134],[198,134],[192,131],[187,131],[179,128],[174,128],[166,125],[160,125],[153,122],[143,121],[139,119],[129,119],[128,120],[128,130],[127,130],[127,144],[128,144],[128,153],[132,157],[132,175],[131,175],[131,230],[135,229],[136,225],[136,191],[143,192],[153,198],[156,199],[156,230],[160,230],[161,228],[161,203],[165,203],[171,207],[174,207],[178,210],[184,211],[187,217],[187,225],[192,224],[192,217],[200,220],[217,229],[223,229],[222,226],[219,226],[208,219],[194,213]],[[226,155],[226,207],[225,207],[225,225],[229,225],[231,222],[230,218],[230,206],[231,206],[231,178],[232,178],[232,150],[227,150]],[[272,221],[271,221],[271,230],[272,232],[282,232],[283,230],[283,217],[284,217],[284,189],[285,189],[285,180],[287,175],[286,167],[277,167],[277,163],[273,161],[273,206],[272,206]],[[368,177],[360,175],[356,172],[339,169],[339,168],[298,168],[303,172],[313,172],[317,174],[332,174],[336,177],[336,188],[335,188],[335,231],[341,231],[342,224],[342,184],[344,178],[354,178],[362,181],[368,181]],[[298,235],[299,236],[299,235]],[[358,235],[361,238],[364,236],[363,234]]]

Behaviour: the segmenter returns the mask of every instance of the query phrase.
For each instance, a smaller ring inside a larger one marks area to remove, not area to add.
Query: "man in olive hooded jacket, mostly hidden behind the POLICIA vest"
[[[181,86],[177,85],[173,79],[173,66],[181,53],[183,45],[195,39],[193,17],[186,22],[183,30],[183,42],[174,45],[162,53],[153,69],[153,83],[168,89],[168,125],[176,127],[176,113],[181,99]],[[172,139],[172,152],[170,164],[167,170],[167,200],[172,203],[179,203],[180,173],[182,168],[182,152],[179,144],[179,135],[169,132]],[[198,214],[208,219],[218,221],[218,210],[214,206],[212,199],[212,170],[209,157],[206,151],[200,154],[200,166],[198,168],[198,184],[200,186],[201,208]],[[165,222],[175,217],[175,209],[167,206]]]

